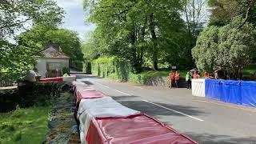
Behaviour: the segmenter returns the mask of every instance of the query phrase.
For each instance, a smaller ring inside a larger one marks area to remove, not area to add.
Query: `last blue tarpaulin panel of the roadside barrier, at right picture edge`
[[[256,82],[241,82],[242,105],[256,107]]]

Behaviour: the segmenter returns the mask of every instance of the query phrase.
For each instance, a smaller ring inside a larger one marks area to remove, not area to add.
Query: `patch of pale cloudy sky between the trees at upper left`
[[[62,27],[75,30],[78,32],[80,38],[84,38],[86,33],[95,29],[94,25],[86,25],[86,14],[82,8],[83,0],[57,0],[58,6],[61,6],[66,14],[63,20]]]

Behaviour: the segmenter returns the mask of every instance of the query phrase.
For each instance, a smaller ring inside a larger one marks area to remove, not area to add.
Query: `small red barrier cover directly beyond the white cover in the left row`
[[[78,90],[77,92],[77,102],[80,102],[81,99],[90,99],[90,98],[102,98],[106,97],[101,91],[94,89],[87,90]]]

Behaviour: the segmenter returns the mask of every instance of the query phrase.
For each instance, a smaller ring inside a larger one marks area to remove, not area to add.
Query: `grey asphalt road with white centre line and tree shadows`
[[[139,86],[80,76],[122,105],[158,118],[198,143],[256,144],[256,109],[191,95],[191,90]]]

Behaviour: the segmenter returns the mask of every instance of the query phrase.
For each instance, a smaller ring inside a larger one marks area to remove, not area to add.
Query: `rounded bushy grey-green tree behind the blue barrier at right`
[[[192,50],[200,70],[212,71],[222,66],[239,78],[242,67],[250,64],[256,52],[256,30],[248,22],[238,28],[243,21],[235,18],[226,26],[210,26],[202,32]]]

